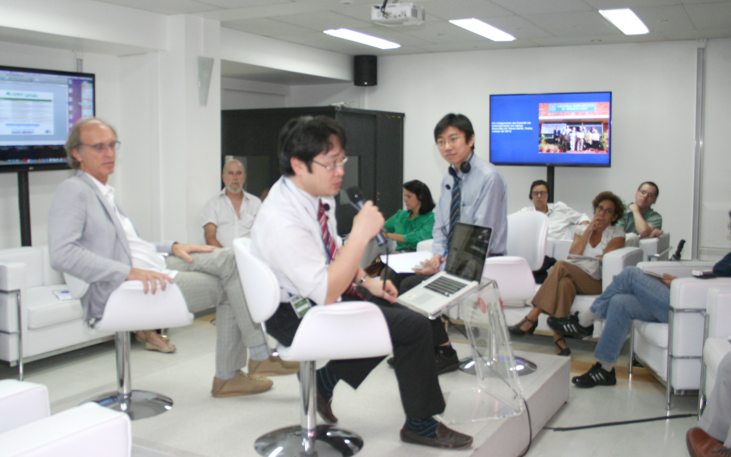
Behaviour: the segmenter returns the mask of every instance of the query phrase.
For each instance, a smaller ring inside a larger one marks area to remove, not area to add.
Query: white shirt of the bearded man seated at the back
[[[249,236],[257,211],[262,206],[262,201],[257,196],[246,191],[242,192],[243,199],[238,209],[240,216],[236,215],[231,199],[226,196],[225,188],[208,200],[201,212],[203,226],[207,223],[216,224],[216,239],[223,247],[232,247],[234,238]]]

